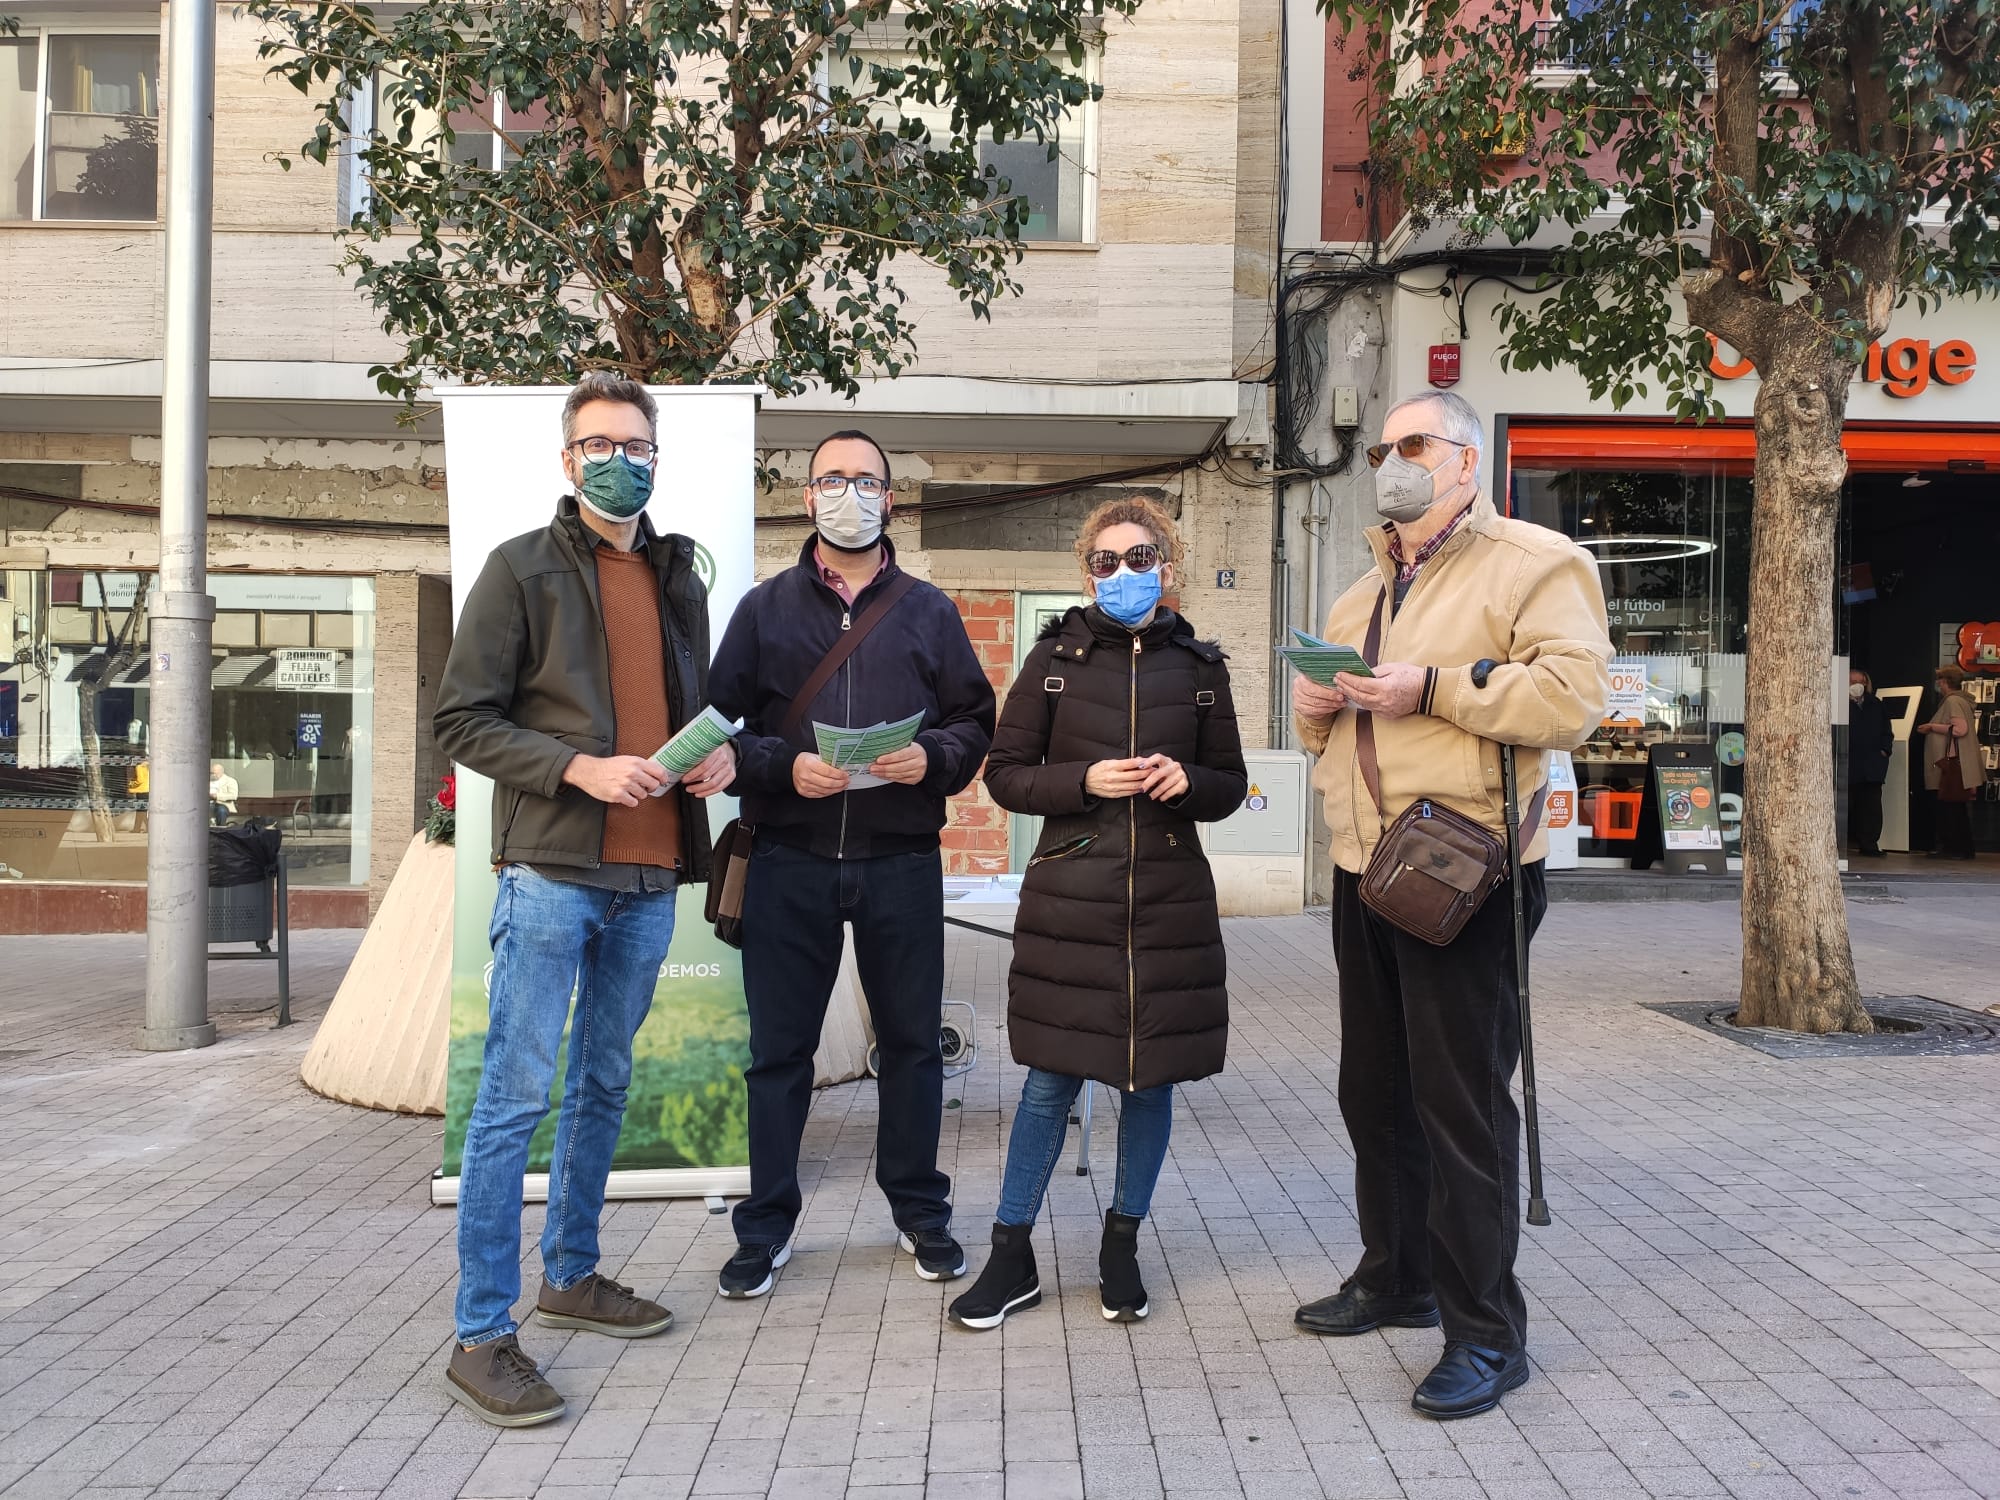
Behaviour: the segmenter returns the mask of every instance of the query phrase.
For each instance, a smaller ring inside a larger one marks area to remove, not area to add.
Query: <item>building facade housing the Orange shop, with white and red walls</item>
[[[1724,848],[1744,816],[1744,648],[1756,372],[1728,346],[1712,370],[1726,420],[1670,420],[1660,392],[1622,412],[1570,370],[1504,370],[1498,312],[1530,302],[1456,226],[1416,226],[1368,168],[1366,82],[1346,40],[1302,0],[1288,10],[1284,282],[1274,426],[1296,460],[1280,538],[1294,560],[1278,590],[1304,620],[1370,564],[1376,524],[1358,452],[1400,396],[1450,388],[1488,424],[1488,486],[1516,516],[1574,536],[1598,556],[1618,668],[1630,684],[1576,756],[1586,866],[1658,862],[1648,746],[1706,746],[1716,760]],[[1522,266],[1532,266],[1534,250]],[[1848,398],[1842,590],[1828,660],[1828,744],[1846,778],[1848,668],[1872,674],[1898,716],[1884,794],[1888,850],[1930,848],[1922,744],[1932,674],[1974,676],[1988,766],[2000,768],[2000,304],[1910,304],[1870,350]],[[1282,436],[1282,434],[1280,434]],[[1974,806],[1982,848],[2000,846],[2000,802]],[[1844,816],[1846,798],[1840,796]],[[1636,812],[1634,820],[1628,816]],[[1324,862],[1318,886],[1328,880]]]

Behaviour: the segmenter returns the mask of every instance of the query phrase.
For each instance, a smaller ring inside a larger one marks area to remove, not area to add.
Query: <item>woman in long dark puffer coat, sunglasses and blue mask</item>
[[[1104,1316],[1148,1312],[1138,1226],[1166,1160],[1174,1084],[1222,1070],[1228,986],[1216,882],[1196,838],[1242,806],[1222,650],[1160,606],[1180,540],[1150,500],[1098,506],[1078,538],[1096,600],[1054,622],[1008,692],[986,790],[1044,818],[1020,888],[1008,1034],[1028,1064],[992,1258],[952,1302],[998,1328],[1042,1300],[1028,1236],[1086,1078],[1120,1090],[1118,1186],[1104,1216]]]

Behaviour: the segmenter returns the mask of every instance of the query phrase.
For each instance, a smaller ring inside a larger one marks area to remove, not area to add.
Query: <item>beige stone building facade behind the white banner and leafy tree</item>
[[[136,928],[164,12],[8,12],[22,30],[0,40],[0,932]],[[428,734],[450,642],[448,476],[436,418],[400,426],[368,376],[392,350],[338,272],[352,168],[278,168],[310,108],[266,76],[256,22],[230,6],[216,22],[214,760],[236,816],[284,828],[296,920],[354,924],[448,770]],[[960,602],[1006,684],[1038,620],[1078,596],[1082,514],[1154,494],[1188,542],[1182,608],[1232,650],[1258,744],[1280,724],[1256,384],[1272,354],[1280,8],[1152,0],[1106,26],[1092,66],[1104,98],[1032,188],[1046,202],[1024,296],[974,324],[950,288],[904,276],[912,374],[852,404],[766,402],[758,446],[788,482],[760,502],[758,566],[786,566],[806,536],[790,482],[804,450],[870,428],[896,464],[900,560]],[[950,868],[1010,868],[1022,836],[966,794]]]

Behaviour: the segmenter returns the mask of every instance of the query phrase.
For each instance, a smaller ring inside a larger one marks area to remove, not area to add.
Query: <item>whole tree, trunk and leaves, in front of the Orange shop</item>
[[[1572,232],[1502,304],[1510,368],[1700,420],[1710,334],[1756,366],[1740,1020],[1872,1030],[1828,748],[1840,430],[1898,306],[2000,292],[2000,0],[1320,4],[1406,212]]]

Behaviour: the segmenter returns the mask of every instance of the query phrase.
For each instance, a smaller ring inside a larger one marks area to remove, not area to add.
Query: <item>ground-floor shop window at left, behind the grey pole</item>
[[[6,572],[14,654],[0,660],[0,880],[146,878],[152,796],[152,574]],[[292,884],[368,882],[374,584],[210,578],[218,618],[212,758],[234,814],[284,834]],[[68,598],[70,602],[58,602]],[[272,618],[340,620],[342,646],[274,646]]]

